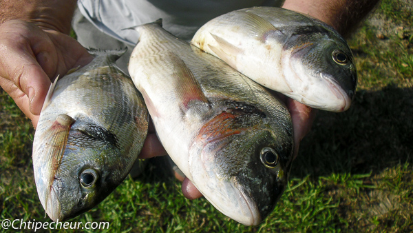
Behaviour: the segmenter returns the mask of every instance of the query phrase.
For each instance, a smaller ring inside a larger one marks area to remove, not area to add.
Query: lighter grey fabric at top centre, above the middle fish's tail
[[[78,8],[96,28],[134,45],[138,33],[122,30],[163,19],[163,26],[180,39],[221,14],[253,6],[281,6],[284,0],[78,0]]]

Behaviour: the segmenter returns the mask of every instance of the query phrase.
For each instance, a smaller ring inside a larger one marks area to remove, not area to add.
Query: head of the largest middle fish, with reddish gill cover
[[[263,112],[244,107],[224,111],[203,126],[195,140],[199,155],[191,156],[189,167],[195,186],[220,212],[257,225],[286,188],[293,136],[290,127],[285,130]]]

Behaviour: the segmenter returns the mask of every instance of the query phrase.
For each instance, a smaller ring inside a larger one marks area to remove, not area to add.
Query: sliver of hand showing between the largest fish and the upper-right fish
[[[291,114],[294,130],[294,158],[298,154],[299,143],[311,130],[311,125],[317,114],[317,110],[308,107],[293,99],[286,99],[286,105]]]

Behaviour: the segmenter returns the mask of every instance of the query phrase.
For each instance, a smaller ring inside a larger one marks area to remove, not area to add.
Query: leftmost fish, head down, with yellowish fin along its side
[[[53,221],[103,201],[125,179],[147,136],[149,113],[114,62],[126,50],[89,50],[94,59],[50,86],[34,133],[37,193]]]

